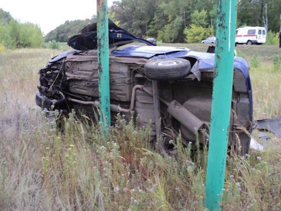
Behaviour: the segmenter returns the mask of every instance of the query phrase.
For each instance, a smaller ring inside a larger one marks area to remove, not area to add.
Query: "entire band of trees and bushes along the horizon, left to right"
[[[138,37],[154,37],[164,43],[198,43],[215,35],[217,0],[119,0],[113,2],[108,17]],[[237,27],[264,26],[268,38],[277,37],[281,0],[238,0]],[[0,46],[42,47],[44,41],[67,42],[91,19],[66,21],[43,37],[38,25],[19,23],[0,9]]]

